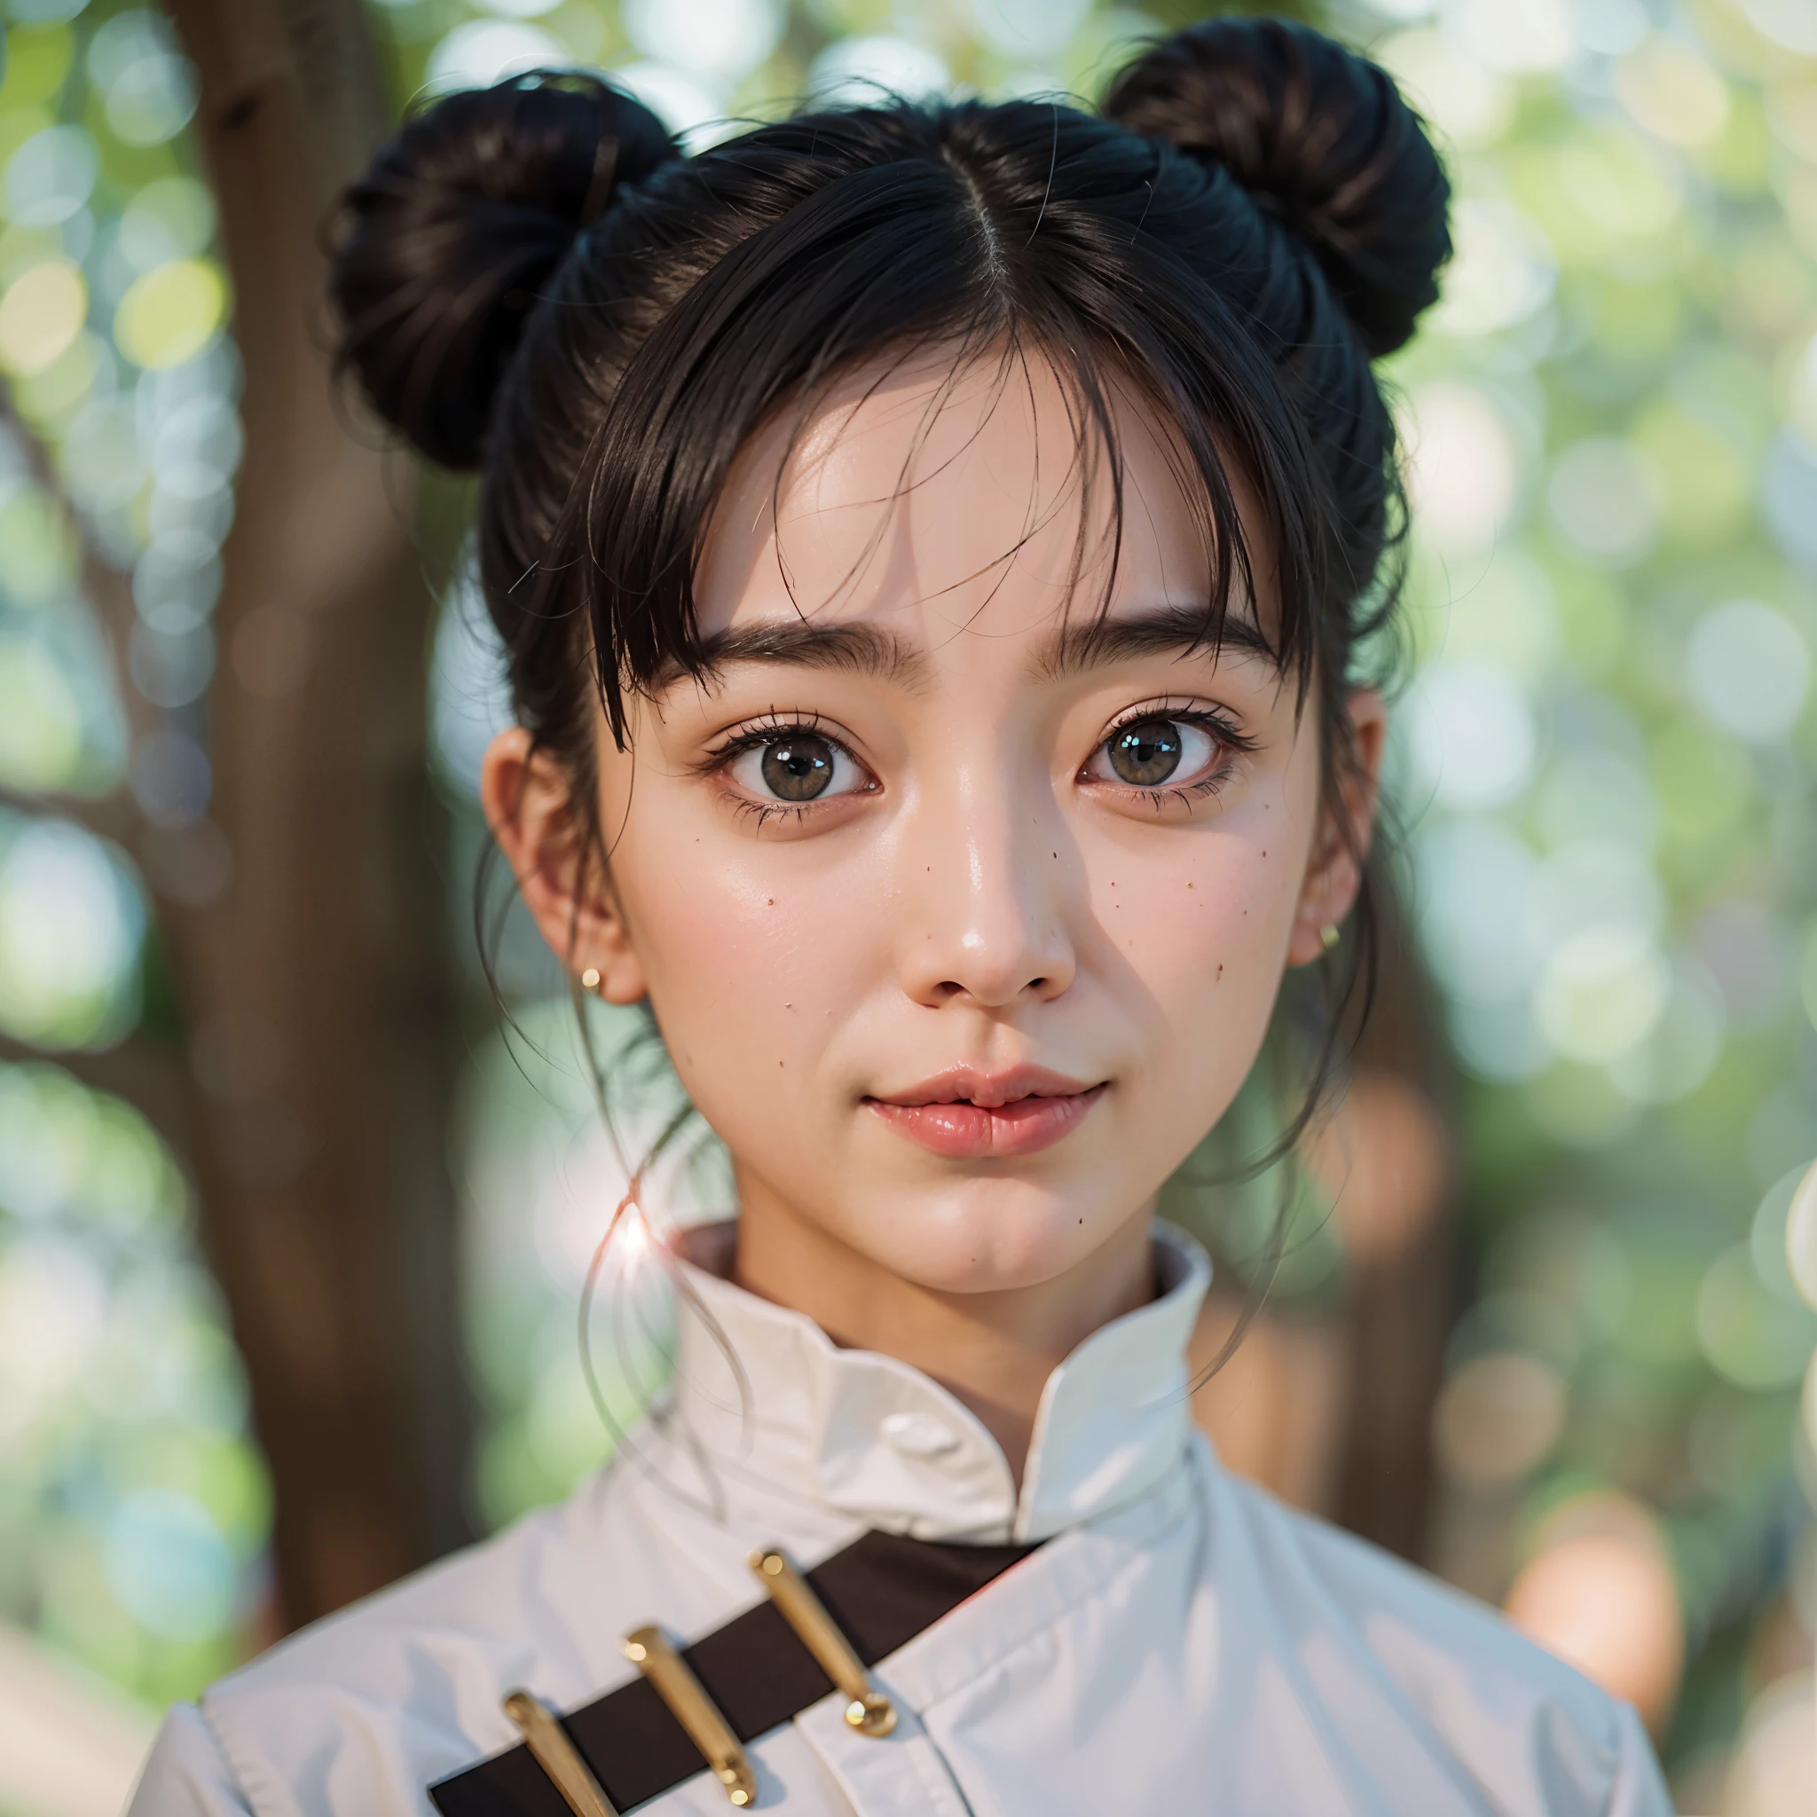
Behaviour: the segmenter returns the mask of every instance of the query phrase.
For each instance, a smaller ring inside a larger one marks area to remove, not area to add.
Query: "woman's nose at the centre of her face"
[[[943,799],[941,799],[943,796]],[[903,847],[903,988],[938,1007],[1048,1001],[1072,983],[1067,863],[1047,776],[1008,763],[967,767],[932,790]]]

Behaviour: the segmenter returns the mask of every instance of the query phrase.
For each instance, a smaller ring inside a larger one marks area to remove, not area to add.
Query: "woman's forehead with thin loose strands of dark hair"
[[[740,452],[701,551],[700,630],[876,621],[939,645],[1039,636],[1072,607],[1203,605],[1190,463],[1130,387],[1105,403],[1108,436],[1050,360],[1016,349],[845,376]]]

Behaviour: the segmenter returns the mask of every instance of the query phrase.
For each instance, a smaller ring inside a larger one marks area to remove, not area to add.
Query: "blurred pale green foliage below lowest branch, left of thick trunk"
[[[145,1119],[0,1065],[0,1615],[149,1704],[243,1646],[271,1521],[245,1385]]]

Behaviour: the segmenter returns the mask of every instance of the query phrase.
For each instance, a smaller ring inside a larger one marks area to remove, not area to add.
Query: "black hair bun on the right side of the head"
[[[1394,80],[1323,33],[1225,18],[1161,40],[1105,116],[1221,164],[1319,260],[1370,354],[1437,302],[1450,182]]]

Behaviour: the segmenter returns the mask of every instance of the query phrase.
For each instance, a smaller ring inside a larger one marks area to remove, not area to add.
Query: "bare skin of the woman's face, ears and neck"
[[[1199,520],[1152,412],[1117,414],[1112,576],[1110,487],[1048,365],[854,374],[727,483],[710,683],[636,700],[625,750],[598,720],[605,874],[527,732],[483,776],[549,945],[649,998],[730,1150],[734,1277],[945,1383],[1018,1475],[1048,1374],[1152,1297],[1161,1183],[1355,898],[1386,723],[1348,696],[1357,776],[1325,799],[1317,703],[1252,647],[1268,601],[1185,647]],[[1157,734],[1174,772],[1130,783],[1117,740]],[[821,792],[781,799],[778,758]],[[1028,1154],[930,1152],[878,1108],[967,1067],[1101,1088]]]

